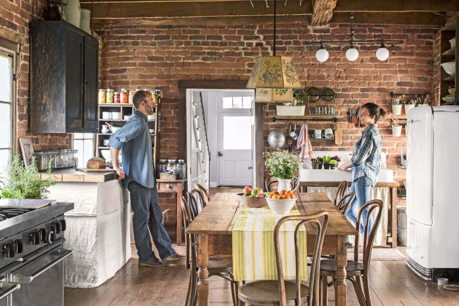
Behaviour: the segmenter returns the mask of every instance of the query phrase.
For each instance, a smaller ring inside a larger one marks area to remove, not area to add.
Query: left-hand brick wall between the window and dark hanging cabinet
[[[29,124],[29,71],[30,49],[28,23],[33,19],[36,11],[38,19],[43,17],[46,6],[45,0],[38,0],[38,5],[32,6],[34,0],[0,0],[0,30],[6,39],[18,38],[24,42],[19,46],[17,55],[17,137],[32,138],[34,150],[55,150],[69,148],[70,141],[67,134],[43,134],[31,133]],[[2,35],[0,35],[2,37]],[[14,51],[14,50],[13,50]],[[16,153],[20,154],[19,142],[16,143]]]

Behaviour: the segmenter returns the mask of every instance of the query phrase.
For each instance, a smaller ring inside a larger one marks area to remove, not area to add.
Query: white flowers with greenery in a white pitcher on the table
[[[263,157],[266,159],[264,164],[269,174],[279,182],[277,190],[291,190],[290,182],[293,178],[297,178],[302,165],[300,157],[286,150],[265,152]]]

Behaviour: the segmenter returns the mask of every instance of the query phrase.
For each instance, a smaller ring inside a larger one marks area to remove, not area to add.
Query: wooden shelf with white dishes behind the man
[[[153,95],[157,95],[157,105],[153,107],[155,113],[148,117],[148,128],[151,133],[151,142],[153,150],[153,161],[157,164],[159,157],[159,134],[161,132],[161,91],[151,90]],[[156,99],[156,98],[155,98]],[[102,99],[103,100],[103,99]],[[99,101],[101,102],[101,101]],[[98,122],[99,133],[96,134],[95,156],[110,160],[110,149],[106,146],[110,136],[123,127],[128,122],[129,117],[134,112],[134,106],[131,100],[127,103],[99,103],[98,104]],[[107,125],[108,124],[108,125]],[[112,126],[109,126],[112,125]],[[123,152],[121,152],[123,154]]]

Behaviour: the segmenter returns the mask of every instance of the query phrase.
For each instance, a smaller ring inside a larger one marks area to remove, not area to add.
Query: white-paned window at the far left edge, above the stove
[[[4,176],[8,160],[14,154],[14,71],[14,52],[0,48],[0,176]]]

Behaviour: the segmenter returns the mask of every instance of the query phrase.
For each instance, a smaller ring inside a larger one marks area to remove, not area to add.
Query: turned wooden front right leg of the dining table
[[[346,306],[347,236],[336,236],[335,305]],[[358,243],[358,242],[357,242]]]

